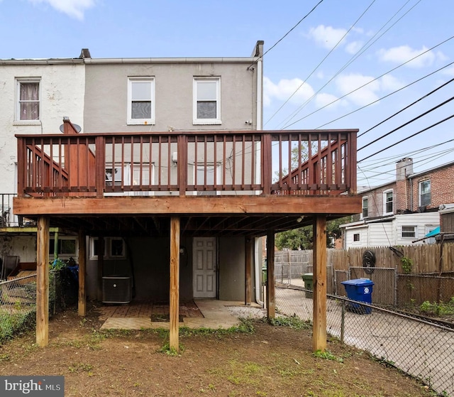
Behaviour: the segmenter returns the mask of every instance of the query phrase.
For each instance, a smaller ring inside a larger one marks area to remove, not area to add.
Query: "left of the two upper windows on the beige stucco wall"
[[[128,124],[155,124],[155,79],[128,78]]]

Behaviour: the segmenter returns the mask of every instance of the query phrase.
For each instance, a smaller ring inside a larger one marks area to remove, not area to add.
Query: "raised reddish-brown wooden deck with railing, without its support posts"
[[[18,135],[15,214],[72,229],[262,235],[360,212],[357,130]],[[295,219],[304,215],[302,223]]]

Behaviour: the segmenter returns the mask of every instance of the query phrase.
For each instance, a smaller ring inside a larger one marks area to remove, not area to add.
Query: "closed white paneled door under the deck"
[[[216,298],[216,238],[194,237],[192,251],[194,298]]]

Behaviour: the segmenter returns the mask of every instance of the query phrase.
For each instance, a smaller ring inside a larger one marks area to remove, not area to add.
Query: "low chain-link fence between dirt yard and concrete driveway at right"
[[[310,290],[277,285],[276,308],[312,320]],[[414,376],[441,396],[454,396],[454,325],[429,322],[338,295],[328,295],[326,330],[341,342]]]

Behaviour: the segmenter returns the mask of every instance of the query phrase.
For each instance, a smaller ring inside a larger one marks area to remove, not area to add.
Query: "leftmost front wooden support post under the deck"
[[[38,217],[36,234],[36,343],[49,344],[49,217]]]

